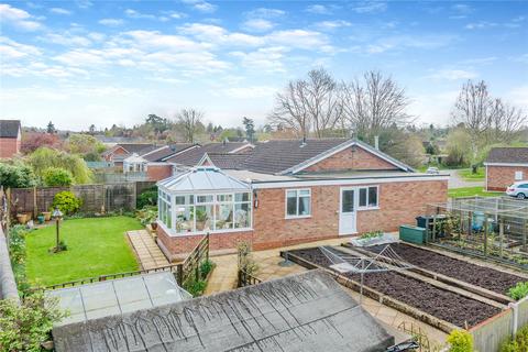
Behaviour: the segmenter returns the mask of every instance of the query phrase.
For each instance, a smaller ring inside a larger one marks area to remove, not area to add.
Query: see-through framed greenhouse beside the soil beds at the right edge
[[[462,254],[528,267],[528,202],[471,197],[427,207],[428,241]]]

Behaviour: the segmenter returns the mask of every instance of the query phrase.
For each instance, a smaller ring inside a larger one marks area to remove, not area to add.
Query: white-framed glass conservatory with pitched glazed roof
[[[251,230],[251,184],[211,166],[157,183],[158,223],[169,235]]]

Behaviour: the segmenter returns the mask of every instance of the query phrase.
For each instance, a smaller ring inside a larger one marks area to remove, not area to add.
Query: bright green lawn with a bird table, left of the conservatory
[[[79,278],[138,270],[124,232],[142,229],[129,217],[72,219],[61,223],[68,250],[48,253],[55,245],[55,226],[26,235],[26,274],[32,285],[54,285]]]

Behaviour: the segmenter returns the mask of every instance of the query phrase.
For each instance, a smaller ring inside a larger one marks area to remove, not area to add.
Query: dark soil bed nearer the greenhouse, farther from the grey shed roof
[[[380,253],[385,246],[375,245],[364,250]],[[486,266],[471,264],[440,253],[422,250],[405,243],[393,243],[391,248],[408,263],[475,285],[494,293],[506,295],[508,289],[519,282],[528,279]]]

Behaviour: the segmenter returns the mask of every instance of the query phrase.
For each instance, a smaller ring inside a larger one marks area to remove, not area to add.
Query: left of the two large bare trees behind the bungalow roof
[[[293,129],[302,138],[311,130],[322,138],[342,116],[340,88],[326,69],[310,70],[306,79],[289,81],[285,91],[277,94],[270,123]]]

